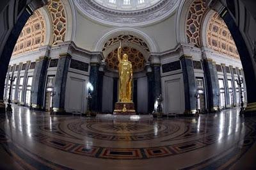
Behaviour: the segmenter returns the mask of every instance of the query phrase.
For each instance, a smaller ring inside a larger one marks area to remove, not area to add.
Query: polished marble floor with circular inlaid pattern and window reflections
[[[0,169],[256,169],[256,117],[0,114]]]

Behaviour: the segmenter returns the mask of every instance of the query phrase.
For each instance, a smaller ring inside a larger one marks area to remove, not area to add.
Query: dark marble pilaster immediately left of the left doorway
[[[32,109],[44,110],[44,92],[49,58],[42,56],[36,59],[33,82],[31,87]]]

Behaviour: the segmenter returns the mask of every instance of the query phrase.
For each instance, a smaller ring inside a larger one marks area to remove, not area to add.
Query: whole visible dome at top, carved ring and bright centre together
[[[93,20],[111,26],[144,26],[170,16],[179,0],[74,0]]]

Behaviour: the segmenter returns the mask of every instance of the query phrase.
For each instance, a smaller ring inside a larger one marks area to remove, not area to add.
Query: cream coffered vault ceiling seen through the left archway
[[[45,19],[39,10],[29,17],[13,49],[13,55],[38,49],[45,43]]]

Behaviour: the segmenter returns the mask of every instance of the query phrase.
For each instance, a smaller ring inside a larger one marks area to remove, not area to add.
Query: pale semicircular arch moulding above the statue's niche
[[[112,29],[108,33],[105,33],[102,35],[100,40],[95,43],[93,49],[95,51],[102,51],[102,48],[104,47],[104,44],[108,42],[111,38],[119,35],[134,35],[138,38],[141,38],[145,43],[147,43],[150,52],[159,52],[159,47],[157,47],[156,42],[150,38],[147,34],[143,33],[143,31],[140,31],[138,29],[134,29],[131,27],[120,27],[117,29]]]

